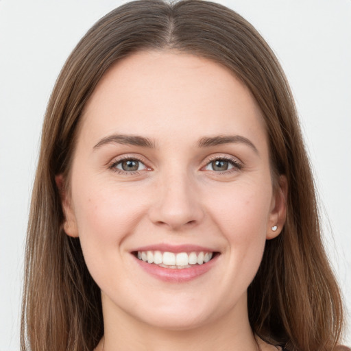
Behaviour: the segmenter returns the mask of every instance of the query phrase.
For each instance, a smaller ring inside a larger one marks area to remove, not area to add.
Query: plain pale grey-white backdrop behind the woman
[[[0,351],[19,350],[29,197],[51,89],[86,30],[123,2],[0,0]],[[350,321],[351,1],[219,2],[261,32],[285,69]],[[351,344],[350,331],[345,342]]]

